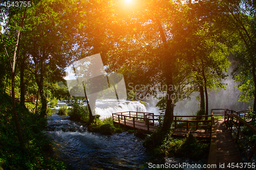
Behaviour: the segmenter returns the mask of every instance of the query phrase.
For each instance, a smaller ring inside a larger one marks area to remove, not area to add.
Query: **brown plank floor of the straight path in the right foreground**
[[[234,142],[231,132],[227,130],[224,118],[215,119],[216,126],[216,143],[217,143],[217,152],[216,152],[216,169],[231,169],[228,168],[228,163],[242,163],[242,157],[237,147],[237,144]],[[224,168],[220,167],[220,164],[224,163]],[[233,169],[233,168],[232,168]],[[244,169],[237,168],[236,169]]]

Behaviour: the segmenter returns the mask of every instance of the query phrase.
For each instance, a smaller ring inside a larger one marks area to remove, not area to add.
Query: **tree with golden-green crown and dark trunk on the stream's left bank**
[[[36,10],[28,13],[27,25],[32,29],[24,33],[24,45],[29,47],[26,50],[27,68],[33,72],[38,86],[42,116],[46,115],[47,84],[63,81],[64,68],[73,55],[75,32],[72,32],[73,22],[68,19],[72,10],[67,10],[66,5],[67,1],[42,1]]]

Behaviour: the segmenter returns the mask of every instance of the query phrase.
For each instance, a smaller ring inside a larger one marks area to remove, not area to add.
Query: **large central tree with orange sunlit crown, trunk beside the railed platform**
[[[196,20],[187,15],[186,4],[178,1],[146,1],[136,6],[138,8],[132,12],[116,10],[117,23],[108,32],[112,39],[117,39],[107,54],[109,69],[127,71],[127,74],[134,72],[136,78],[132,78],[138,80],[138,84],[167,86],[162,126],[163,133],[167,134],[173,123],[175,106],[175,90],[169,87],[180,82],[186,84],[183,80],[189,75],[189,69],[185,68],[189,67],[184,48],[188,35],[196,30],[190,23]],[[122,34],[119,32],[121,35],[115,34],[118,29],[123,29]],[[156,94],[156,90],[151,92]]]

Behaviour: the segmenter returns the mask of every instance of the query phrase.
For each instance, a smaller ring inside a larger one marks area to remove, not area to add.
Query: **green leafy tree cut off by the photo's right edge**
[[[234,79],[240,84],[238,87],[243,90],[241,95],[244,101],[254,99],[253,119],[256,111],[256,8],[255,1],[223,1],[219,3],[221,15],[216,19],[218,27],[225,29],[229,41],[233,42],[238,64],[234,69]],[[249,98],[247,98],[247,96]]]

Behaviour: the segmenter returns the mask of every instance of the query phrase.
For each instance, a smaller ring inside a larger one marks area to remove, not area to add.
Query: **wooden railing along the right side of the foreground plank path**
[[[247,162],[251,162],[251,158],[254,155],[256,157],[256,140],[254,141],[254,144],[249,141],[249,139],[246,137],[246,135],[242,132],[242,128],[247,127],[252,134],[256,135],[256,128],[243,120],[240,117],[240,114],[235,114],[236,111],[233,110],[226,110],[225,111],[225,123],[228,127],[228,129],[233,133],[233,136],[235,136],[236,142],[240,143],[241,148],[244,151],[245,157],[247,159]],[[250,115],[248,113],[248,115]],[[242,116],[243,118],[246,116]],[[243,141],[242,141],[243,140]],[[244,144],[247,145],[247,148],[244,146]]]

